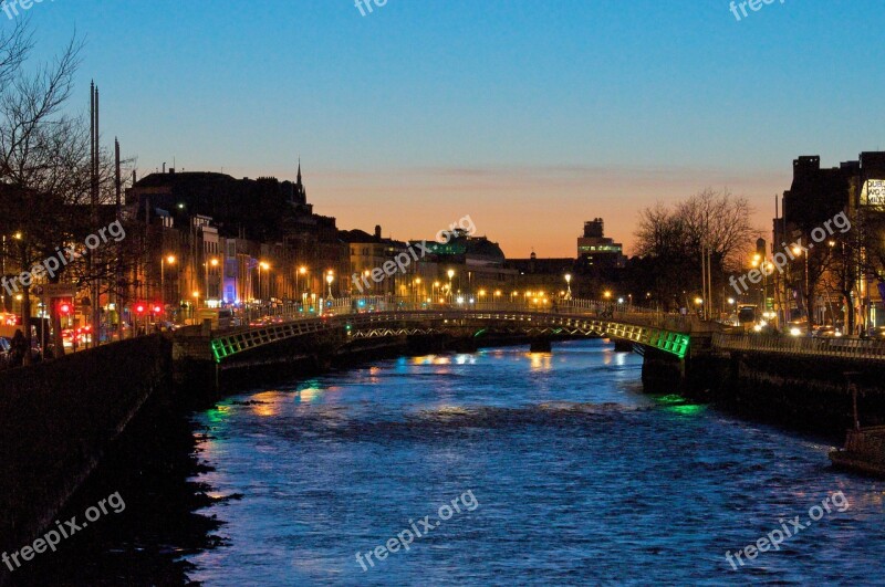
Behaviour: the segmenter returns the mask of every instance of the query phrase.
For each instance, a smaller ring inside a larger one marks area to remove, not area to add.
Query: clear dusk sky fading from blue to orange
[[[708,187],[770,230],[795,157],[885,148],[882,0],[740,20],[727,0],[372,1],[44,0],[17,18],[34,65],[85,40],[69,108],[94,78],[103,144],[139,176],[294,179],[301,157],[342,229],[430,238],[470,216],[509,258],[574,256],[596,217],[629,252],[643,208]]]

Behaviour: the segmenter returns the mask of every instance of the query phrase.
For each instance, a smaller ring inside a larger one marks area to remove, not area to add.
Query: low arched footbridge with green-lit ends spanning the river
[[[325,316],[304,318],[289,314],[269,316],[262,322],[214,331],[210,342],[214,360],[220,365],[242,353],[320,334],[339,334],[345,342],[355,342],[456,331],[471,333],[473,337],[488,334],[541,339],[604,336],[633,344],[639,353],[655,348],[681,359],[689,350],[691,332],[700,324],[685,316],[584,300],[563,301],[553,310],[512,303],[442,306],[383,298],[339,300]]]

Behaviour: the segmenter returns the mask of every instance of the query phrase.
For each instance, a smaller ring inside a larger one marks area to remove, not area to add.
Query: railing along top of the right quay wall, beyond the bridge
[[[780,337],[717,333],[712,336],[712,347],[719,350],[885,360],[885,342],[860,338]]]

